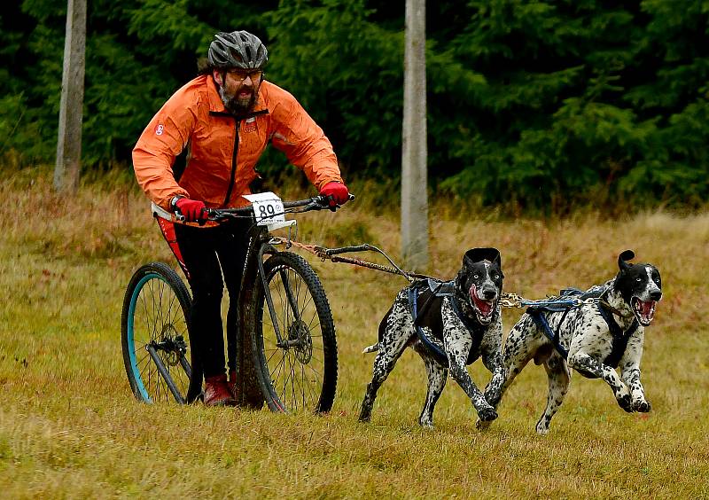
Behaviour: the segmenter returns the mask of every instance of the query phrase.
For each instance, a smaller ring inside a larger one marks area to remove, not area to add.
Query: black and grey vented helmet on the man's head
[[[209,44],[207,59],[220,69],[261,69],[269,60],[269,51],[258,36],[247,31],[220,32]]]

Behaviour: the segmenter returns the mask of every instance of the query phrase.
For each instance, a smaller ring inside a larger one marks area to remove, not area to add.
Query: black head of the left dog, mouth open
[[[465,252],[456,277],[456,293],[470,304],[480,324],[490,324],[503,293],[503,264],[496,248],[472,248]]]

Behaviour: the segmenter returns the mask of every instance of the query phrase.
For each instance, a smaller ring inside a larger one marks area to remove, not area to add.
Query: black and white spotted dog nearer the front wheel
[[[502,292],[502,263],[495,248],[466,252],[453,281],[423,280],[404,288],[379,324],[378,343],[364,349],[378,354],[359,420],[370,420],[379,387],[407,347],[421,355],[428,375],[424,409],[418,418],[421,426],[433,426],[433,408],[446,386],[448,372],[470,397],[479,420],[497,418],[488,401],[499,401],[504,380],[503,322],[498,304]],[[466,369],[466,364],[478,357],[493,373],[485,395]]]

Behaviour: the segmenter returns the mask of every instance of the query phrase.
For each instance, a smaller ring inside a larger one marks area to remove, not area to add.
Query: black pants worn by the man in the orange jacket
[[[224,331],[222,294],[229,293],[227,340],[229,368],[236,367],[238,295],[244,272],[248,236],[252,221],[244,219],[214,228],[175,224],[175,237],[192,290],[192,348],[202,363],[205,377],[224,373]],[[223,281],[222,281],[223,273]]]

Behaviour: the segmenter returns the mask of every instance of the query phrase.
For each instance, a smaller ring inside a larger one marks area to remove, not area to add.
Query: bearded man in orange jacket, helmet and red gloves
[[[138,183],[154,203],[179,212],[187,222],[201,221],[206,208],[248,205],[244,195],[259,178],[255,165],[269,142],[330,198],[332,207],[347,202],[330,141],[290,93],[263,79],[268,59],[255,35],[214,35],[206,67],[160,108],[133,150]],[[187,165],[179,171],[175,159],[184,150]],[[236,403],[236,356],[230,346],[227,379],[221,304],[225,284],[227,336],[236,339],[250,225],[245,219],[174,228],[175,256],[192,291],[193,347],[204,370],[208,406]]]

